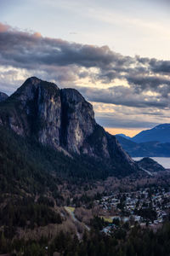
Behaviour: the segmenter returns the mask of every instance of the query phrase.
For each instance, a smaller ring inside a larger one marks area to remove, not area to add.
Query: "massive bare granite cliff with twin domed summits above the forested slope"
[[[96,124],[92,105],[74,89],[59,90],[56,84],[27,79],[1,104],[0,124],[68,154],[135,168],[116,137]]]

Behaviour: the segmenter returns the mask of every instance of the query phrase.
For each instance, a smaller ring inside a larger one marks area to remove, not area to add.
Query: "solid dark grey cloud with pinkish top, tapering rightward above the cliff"
[[[39,65],[104,68],[115,61],[120,62],[119,65],[126,61],[108,46],[97,47],[42,38],[38,33],[20,32],[4,25],[0,25],[0,54],[3,65],[31,69]]]

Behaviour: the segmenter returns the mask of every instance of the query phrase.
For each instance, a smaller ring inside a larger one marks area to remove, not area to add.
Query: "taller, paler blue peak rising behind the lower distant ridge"
[[[170,124],[157,125],[153,129],[141,131],[131,138],[134,143],[170,143]]]

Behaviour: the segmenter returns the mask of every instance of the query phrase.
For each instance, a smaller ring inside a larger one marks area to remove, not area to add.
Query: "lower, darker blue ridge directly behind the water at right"
[[[134,143],[125,137],[116,138],[131,157],[170,157],[170,143]]]

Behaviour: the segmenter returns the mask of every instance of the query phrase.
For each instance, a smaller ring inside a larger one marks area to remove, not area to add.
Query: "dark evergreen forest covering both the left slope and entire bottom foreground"
[[[104,219],[91,219],[88,232],[80,238],[75,232],[59,232],[56,236],[38,239],[19,238],[19,230],[35,230],[48,224],[62,224],[65,217],[57,207],[65,205],[59,186],[64,183],[82,186],[105,179],[111,173],[105,162],[87,157],[74,159],[52,148],[17,136],[0,127],[0,253],[24,256],[130,256],[170,255],[170,224],[154,232],[141,229],[138,224],[119,226],[105,235],[101,230],[108,223]],[[95,195],[99,199],[100,195]],[[90,197],[74,199],[87,205]],[[69,204],[69,202],[68,202]],[[142,212],[148,216],[150,212]],[[152,212],[153,213],[153,212]],[[151,214],[152,214],[151,213]]]

